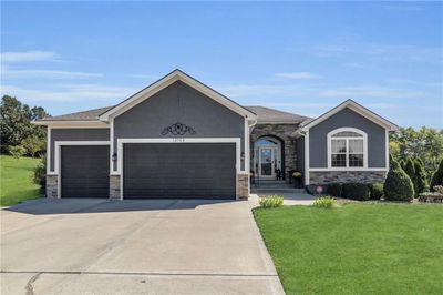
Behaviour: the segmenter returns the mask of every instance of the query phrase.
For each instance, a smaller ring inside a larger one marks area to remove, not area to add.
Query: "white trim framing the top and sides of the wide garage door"
[[[120,175],[120,200],[123,200],[123,144],[124,143],[235,143],[236,144],[236,200],[238,200],[238,174],[241,172],[240,138],[172,138],[172,139],[117,139],[117,171]]]

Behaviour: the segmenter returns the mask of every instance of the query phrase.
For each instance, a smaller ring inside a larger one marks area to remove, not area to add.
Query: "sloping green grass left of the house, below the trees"
[[[40,196],[39,185],[32,182],[40,159],[0,155],[0,205],[10,206]]]

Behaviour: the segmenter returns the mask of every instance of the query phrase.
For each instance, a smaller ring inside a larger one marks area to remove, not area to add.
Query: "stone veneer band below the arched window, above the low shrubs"
[[[384,171],[311,171],[309,172],[310,184],[328,184],[334,182],[384,182]]]

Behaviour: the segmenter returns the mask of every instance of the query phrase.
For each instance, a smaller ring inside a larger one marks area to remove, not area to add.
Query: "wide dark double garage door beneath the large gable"
[[[124,144],[125,199],[235,199],[235,143]]]

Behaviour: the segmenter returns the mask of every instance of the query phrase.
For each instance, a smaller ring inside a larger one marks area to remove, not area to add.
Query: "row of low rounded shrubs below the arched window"
[[[382,183],[330,183],[328,193],[336,197],[359,201],[380,200],[383,196]]]

